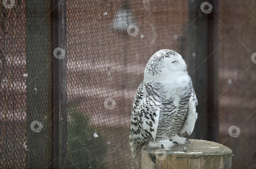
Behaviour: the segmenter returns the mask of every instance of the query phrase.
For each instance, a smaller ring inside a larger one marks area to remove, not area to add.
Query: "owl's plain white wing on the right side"
[[[191,82],[192,83],[192,82]],[[194,91],[194,88],[191,88],[191,97],[188,101],[188,109],[187,109],[187,116],[186,120],[184,121],[182,127],[180,128],[180,131],[178,132],[179,136],[184,136],[186,133],[190,135],[195,127],[195,123],[197,120],[197,112],[196,112],[196,106],[198,104],[196,93]]]

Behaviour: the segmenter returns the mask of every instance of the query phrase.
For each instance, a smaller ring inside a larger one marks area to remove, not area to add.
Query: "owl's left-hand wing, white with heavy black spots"
[[[131,112],[130,146],[133,158],[139,155],[146,141],[155,141],[161,107],[158,99],[147,96],[142,82],[134,96]]]

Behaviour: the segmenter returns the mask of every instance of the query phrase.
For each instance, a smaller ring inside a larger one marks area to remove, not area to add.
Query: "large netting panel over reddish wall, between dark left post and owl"
[[[68,168],[140,168],[129,130],[145,65],[167,47],[186,57],[188,3],[161,2],[67,1]]]

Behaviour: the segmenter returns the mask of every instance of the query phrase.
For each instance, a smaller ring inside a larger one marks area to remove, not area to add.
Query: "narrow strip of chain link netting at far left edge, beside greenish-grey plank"
[[[0,168],[26,167],[26,5],[0,1]]]

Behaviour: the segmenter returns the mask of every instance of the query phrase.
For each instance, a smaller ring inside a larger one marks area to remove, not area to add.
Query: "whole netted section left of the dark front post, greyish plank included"
[[[0,9],[0,168],[52,168],[51,2]]]

